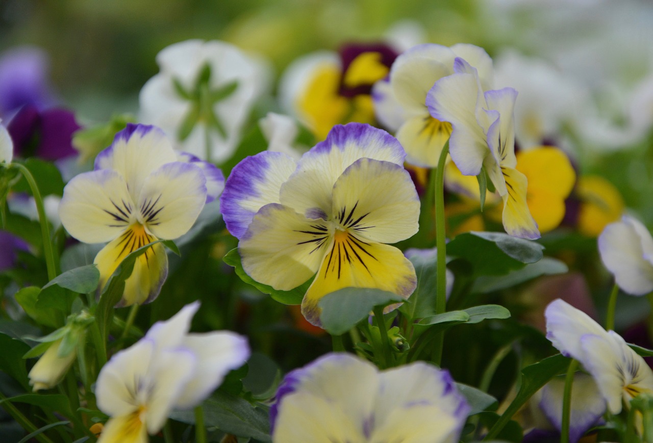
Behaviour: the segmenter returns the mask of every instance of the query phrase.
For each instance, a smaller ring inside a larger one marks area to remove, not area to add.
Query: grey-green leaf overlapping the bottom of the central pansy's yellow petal
[[[322,310],[322,328],[332,335],[340,335],[367,318],[375,306],[397,301],[404,301],[404,298],[380,289],[343,288],[321,298],[317,306]]]

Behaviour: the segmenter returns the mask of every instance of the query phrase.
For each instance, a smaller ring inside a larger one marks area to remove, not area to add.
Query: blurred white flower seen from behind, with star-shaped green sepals
[[[186,40],[157,55],[159,74],[140,91],[140,119],[161,127],[182,151],[229,159],[254,102],[266,89],[263,63],[217,40]]]

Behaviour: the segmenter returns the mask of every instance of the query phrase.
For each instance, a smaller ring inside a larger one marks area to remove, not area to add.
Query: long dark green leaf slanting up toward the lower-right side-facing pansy
[[[570,361],[571,359],[562,354],[557,354],[522,369],[521,383],[517,395],[515,395],[515,399],[513,399],[513,402],[508,406],[505,412],[503,412],[501,418],[494,423],[485,439],[496,438],[500,435],[503,427],[508,423],[508,421],[510,421],[519,408],[521,408],[535,392],[547,384],[551,378],[564,373],[567,370]]]

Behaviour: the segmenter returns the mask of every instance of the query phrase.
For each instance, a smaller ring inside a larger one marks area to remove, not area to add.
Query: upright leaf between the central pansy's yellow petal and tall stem
[[[417,288],[399,311],[411,320],[433,316],[436,314],[436,250],[432,254],[409,254],[407,258],[415,267]]]

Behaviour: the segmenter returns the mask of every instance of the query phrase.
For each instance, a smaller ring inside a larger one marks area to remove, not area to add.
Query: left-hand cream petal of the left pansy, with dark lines
[[[63,227],[84,243],[118,237],[136,217],[125,179],[114,170],[84,172],[63,189],[59,217]]]

